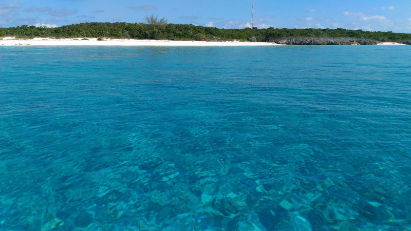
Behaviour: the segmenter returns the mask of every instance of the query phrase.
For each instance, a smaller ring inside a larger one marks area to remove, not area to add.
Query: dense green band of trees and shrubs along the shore
[[[0,28],[0,37],[106,37],[139,40],[197,40],[197,41],[251,41],[271,42],[285,38],[364,38],[379,42],[410,42],[411,34],[370,32],[347,29],[287,29],[245,28],[218,29],[182,24],[150,25],[143,23],[80,23],[57,28],[18,26]]]

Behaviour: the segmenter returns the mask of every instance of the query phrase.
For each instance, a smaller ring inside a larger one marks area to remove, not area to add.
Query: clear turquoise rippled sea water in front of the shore
[[[2,48],[0,229],[410,229],[410,51]]]

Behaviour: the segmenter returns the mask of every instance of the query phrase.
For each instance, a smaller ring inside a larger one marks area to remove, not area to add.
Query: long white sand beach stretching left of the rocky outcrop
[[[16,40],[14,37],[0,38],[0,46],[284,46],[275,43],[251,42],[206,42],[206,41],[170,41],[170,40],[126,40],[104,38],[43,38]]]

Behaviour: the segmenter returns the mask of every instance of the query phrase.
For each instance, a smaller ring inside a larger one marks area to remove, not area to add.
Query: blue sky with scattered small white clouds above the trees
[[[252,1],[2,0],[0,27],[62,26],[82,22],[144,22],[146,15],[169,23],[245,28]],[[258,28],[346,28],[411,33],[410,0],[255,0]]]

